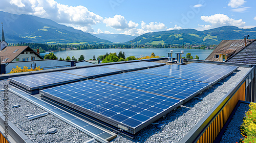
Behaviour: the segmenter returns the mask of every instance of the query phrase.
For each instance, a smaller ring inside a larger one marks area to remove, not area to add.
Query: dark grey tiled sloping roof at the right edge
[[[226,62],[256,64],[256,39],[228,58]]]

